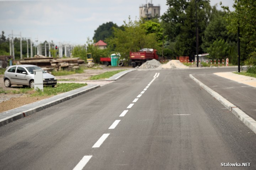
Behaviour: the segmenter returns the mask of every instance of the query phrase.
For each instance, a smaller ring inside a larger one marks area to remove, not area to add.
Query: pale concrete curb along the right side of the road
[[[212,95],[214,98],[216,98],[220,103],[223,104],[226,108],[229,109],[236,117],[238,117],[249,129],[251,129],[256,134],[256,121],[252,119],[250,116],[248,116],[246,113],[241,111],[238,107],[236,107],[234,104],[230,103],[228,100],[226,100],[224,97],[219,95],[217,92],[210,89],[208,86],[203,84],[198,79],[194,78],[193,75],[189,75],[191,79],[193,79],[198,85],[200,85],[204,90],[206,90],[210,95]]]

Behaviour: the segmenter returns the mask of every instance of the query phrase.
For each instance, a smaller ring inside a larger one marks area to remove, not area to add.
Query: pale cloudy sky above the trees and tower
[[[210,0],[210,4],[220,10],[220,1],[232,10],[234,0]],[[166,0],[152,3],[160,5],[160,15],[167,11]],[[34,42],[84,45],[103,23],[121,26],[129,16],[138,19],[143,4],[146,0],[0,0],[0,32],[7,37],[13,31],[14,37],[21,34]]]

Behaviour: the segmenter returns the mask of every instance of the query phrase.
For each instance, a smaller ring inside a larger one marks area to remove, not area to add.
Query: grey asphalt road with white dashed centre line
[[[221,71],[134,71],[1,126],[0,169],[256,169],[256,134],[189,77]]]

